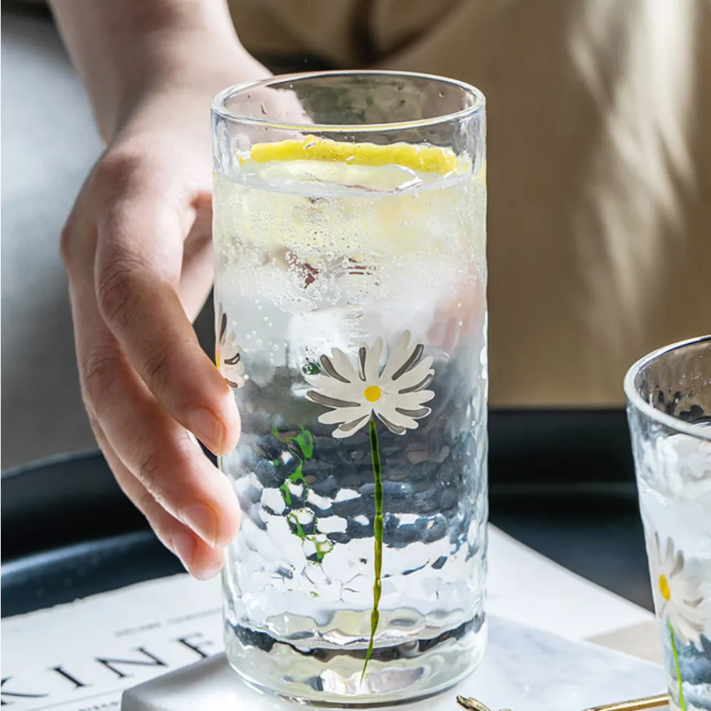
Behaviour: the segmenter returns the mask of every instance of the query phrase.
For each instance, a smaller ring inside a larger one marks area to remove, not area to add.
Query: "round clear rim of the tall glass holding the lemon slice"
[[[414,119],[412,121],[398,121],[392,123],[378,124],[301,124],[290,122],[270,121],[269,119],[260,119],[257,117],[247,116],[228,109],[226,102],[228,99],[235,97],[238,94],[250,90],[254,87],[266,87],[270,84],[283,84],[289,81],[300,81],[305,79],[316,79],[318,77],[406,77],[424,79],[440,84],[447,84],[454,87],[459,87],[461,90],[474,98],[474,103],[464,109],[442,114],[442,116],[433,116],[429,119]],[[481,111],[486,106],[486,97],[483,92],[471,84],[461,82],[458,79],[442,77],[436,74],[425,74],[420,72],[405,72],[398,70],[372,69],[372,70],[325,70],[315,72],[300,72],[294,74],[274,75],[266,79],[260,79],[254,82],[245,82],[235,84],[220,91],[213,98],[212,110],[218,116],[228,119],[235,123],[269,127],[272,129],[280,129],[286,131],[317,131],[319,133],[365,133],[373,131],[400,131],[404,129],[423,128],[428,126],[436,126],[437,124],[447,123],[450,121],[459,121],[465,119],[477,112]]]

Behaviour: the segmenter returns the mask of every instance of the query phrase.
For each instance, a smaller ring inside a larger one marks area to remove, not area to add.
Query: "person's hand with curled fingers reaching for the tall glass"
[[[232,486],[203,455],[240,418],[191,326],[210,291],[209,107],[234,80],[153,92],[87,177],[62,235],[82,397],[119,486],[196,577],[237,532]]]

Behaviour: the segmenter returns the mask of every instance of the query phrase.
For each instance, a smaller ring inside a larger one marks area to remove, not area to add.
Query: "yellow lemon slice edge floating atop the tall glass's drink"
[[[288,139],[277,143],[257,143],[250,159],[268,161],[328,161],[356,166],[398,165],[422,173],[449,175],[460,167],[454,151],[439,146],[417,146],[394,143],[380,146],[374,143],[346,143],[307,136],[303,140]]]

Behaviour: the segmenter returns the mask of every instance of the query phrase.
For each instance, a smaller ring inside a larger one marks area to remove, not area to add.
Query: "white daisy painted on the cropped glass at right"
[[[671,538],[662,550],[659,534],[654,533],[652,555],[652,588],[661,619],[667,619],[685,645],[693,644],[701,649],[700,635],[706,619],[700,609],[704,599],[699,591],[699,582],[684,575],[684,554],[675,551]]]

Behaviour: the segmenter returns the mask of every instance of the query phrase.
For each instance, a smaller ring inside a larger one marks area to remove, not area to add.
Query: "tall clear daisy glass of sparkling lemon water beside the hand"
[[[486,634],[483,95],[276,77],[220,93],[213,127],[228,658],[299,700],[434,693]]]

